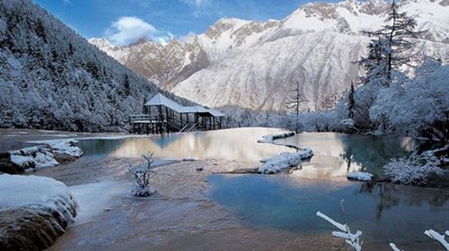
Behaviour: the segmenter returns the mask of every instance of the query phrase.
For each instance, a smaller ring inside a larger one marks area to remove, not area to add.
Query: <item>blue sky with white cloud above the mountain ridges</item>
[[[123,45],[202,33],[223,17],[281,19],[309,0],[34,0],[85,38]]]

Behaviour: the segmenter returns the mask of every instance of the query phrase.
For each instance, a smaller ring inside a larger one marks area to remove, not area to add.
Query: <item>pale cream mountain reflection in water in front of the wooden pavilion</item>
[[[138,157],[154,151],[159,158],[194,158],[198,160],[242,160],[257,162],[282,151],[292,151],[284,146],[257,143],[266,134],[278,132],[269,128],[239,128],[219,131],[168,134],[156,138],[131,138],[115,151],[116,157]]]

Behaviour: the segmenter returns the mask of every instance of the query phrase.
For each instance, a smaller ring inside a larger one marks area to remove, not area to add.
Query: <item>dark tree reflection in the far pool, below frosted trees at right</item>
[[[382,167],[392,158],[406,156],[408,151],[403,145],[403,139],[398,137],[377,137],[367,135],[342,135],[340,137],[344,151],[340,157],[348,163],[361,167],[375,175],[382,175]],[[410,143],[412,144],[412,143]]]

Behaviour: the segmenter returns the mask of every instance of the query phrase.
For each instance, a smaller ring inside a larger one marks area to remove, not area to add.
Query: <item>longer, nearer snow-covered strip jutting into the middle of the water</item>
[[[301,160],[312,158],[313,151],[306,148],[298,152],[282,152],[276,157],[260,160],[262,165],[259,172],[263,174],[278,173],[283,169],[296,167],[301,163]]]

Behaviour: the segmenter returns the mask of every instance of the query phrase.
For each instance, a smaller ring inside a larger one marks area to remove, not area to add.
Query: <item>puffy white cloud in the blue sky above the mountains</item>
[[[153,25],[135,16],[123,16],[112,22],[105,36],[114,45],[127,45],[137,39],[147,38],[162,44],[172,39],[172,33],[157,30]]]

